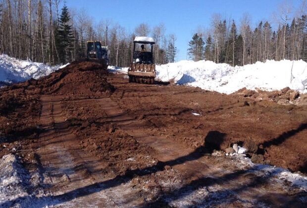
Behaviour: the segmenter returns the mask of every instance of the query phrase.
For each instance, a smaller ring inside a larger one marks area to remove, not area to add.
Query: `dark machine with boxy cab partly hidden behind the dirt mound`
[[[88,41],[86,45],[86,58],[89,61],[99,62],[103,68],[107,69],[108,50],[107,46],[102,46],[100,41]]]

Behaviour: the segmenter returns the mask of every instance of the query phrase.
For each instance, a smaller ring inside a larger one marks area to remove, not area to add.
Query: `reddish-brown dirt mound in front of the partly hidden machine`
[[[114,91],[114,87],[106,81],[107,73],[101,63],[75,61],[39,79],[37,84],[41,86],[43,94],[86,96],[109,94]]]

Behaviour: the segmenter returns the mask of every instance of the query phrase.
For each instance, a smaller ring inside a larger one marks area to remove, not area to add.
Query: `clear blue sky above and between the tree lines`
[[[211,16],[219,13],[226,19],[234,19],[237,27],[244,13],[249,13],[252,26],[260,20],[274,23],[273,13],[285,0],[66,0],[67,6],[86,8],[94,21],[110,19],[128,31],[140,23],[151,28],[163,22],[166,34],[176,34],[179,49],[177,60],[187,59],[188,42],[198,27],[209,28]],[[288,0],[297,11],[302,0]]]

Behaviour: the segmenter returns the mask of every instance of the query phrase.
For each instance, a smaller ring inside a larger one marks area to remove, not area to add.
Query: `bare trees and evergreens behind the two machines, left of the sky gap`
[[[109,64],[128,66],[136,36],[152,36],[157,64],[174,62],[175,34],[163,23],[141,23],[133,32],[111,20],[94,22],[85,9],[60,8],[61,0],[0,0],[0,52],[19,59],[64,64],[86,57],[86,42],[108,47]]]

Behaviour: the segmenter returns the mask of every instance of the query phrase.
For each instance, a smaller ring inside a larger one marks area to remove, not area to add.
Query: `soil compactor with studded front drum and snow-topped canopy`
[[[136,37],[133,44],[132,63],[128,69],[129,82],[153,84],[155,77],[153,38]]]

